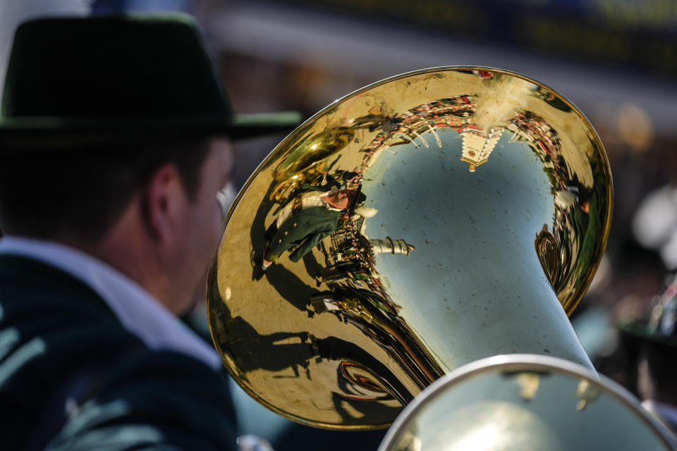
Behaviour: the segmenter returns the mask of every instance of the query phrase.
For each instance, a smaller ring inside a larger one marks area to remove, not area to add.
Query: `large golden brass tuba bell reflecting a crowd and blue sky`
[[[496,354],[592,367],[566,314],[602,258],[611,190],[590,123],[522,75],[433,68],[360,89],[231,207],[209,275],[216,349],[262,404],[325,428],[388,426]]]

